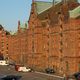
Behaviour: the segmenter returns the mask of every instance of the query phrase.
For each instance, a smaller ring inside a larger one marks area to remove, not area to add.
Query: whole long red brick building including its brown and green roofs
[[[8,55],[35,70],[80,70],[80,4],[77,0],[32,2],[28,27],[10,35]]]

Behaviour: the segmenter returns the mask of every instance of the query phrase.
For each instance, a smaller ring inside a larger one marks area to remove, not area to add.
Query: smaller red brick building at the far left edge
[[[9,32],[0,25],[0,59],[8,58],[8,35]]]

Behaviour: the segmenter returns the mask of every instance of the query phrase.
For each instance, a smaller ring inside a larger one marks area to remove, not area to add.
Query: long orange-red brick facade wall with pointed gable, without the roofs
[[[60,73],[79,71],[80,20],[69,19],[67,23],[62,22],[62,26],[48,23],[42,26],[33,11],[28,25],[25,31],[9,37],[11,59],[36,70],[50,67]]]

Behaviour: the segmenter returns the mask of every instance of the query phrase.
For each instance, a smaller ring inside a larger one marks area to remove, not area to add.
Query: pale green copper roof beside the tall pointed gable
[[[55,5],[61,1],[55,2]],[[53,6],[53,2],[35,1],[37,13],[40,14]]]

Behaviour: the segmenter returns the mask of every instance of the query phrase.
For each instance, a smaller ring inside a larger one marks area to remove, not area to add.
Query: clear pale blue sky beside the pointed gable
[[[52,1],[52,0],[38,0]],[[80,0],[79,0],[80,1]],[[17,30],[17,22],[28,21],[32,0],[0,0],[0,24],[8,31]]]

